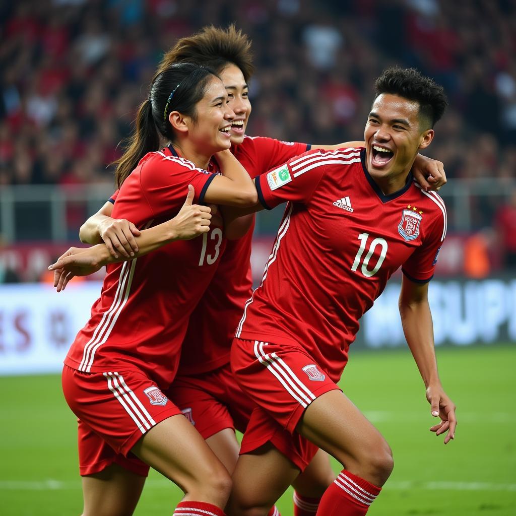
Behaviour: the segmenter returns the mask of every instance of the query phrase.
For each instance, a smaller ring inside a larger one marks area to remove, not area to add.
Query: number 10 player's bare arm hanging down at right
[[[421,284],[403,275],[399,296],[399,313],[405,338],[426,387],[426,397],[433,416],[441,422],[430,428],[439,436],[447,431],[444,444],[455,438],[455,405],[444,392],[437,370],[433,325],[428,303],[428,282]]]

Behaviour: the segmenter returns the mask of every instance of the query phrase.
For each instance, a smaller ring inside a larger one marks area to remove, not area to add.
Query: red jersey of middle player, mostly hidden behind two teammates
[[[246,136],[232,149],[251,178],[307,151],[306,143]],[[235,328],[252,293],[251,242],[254,229],[227,243],[217,272],[190,316],[181,351],[180,374],[201,374],[230,361]]]

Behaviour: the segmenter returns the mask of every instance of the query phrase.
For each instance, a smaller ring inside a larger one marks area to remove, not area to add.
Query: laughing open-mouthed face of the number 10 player
[[[385,195],[405,185],[417,152],[432,138],[433,130],[420,125],[417,102],[390,93],[378,95],[364,140],[367,171]]]

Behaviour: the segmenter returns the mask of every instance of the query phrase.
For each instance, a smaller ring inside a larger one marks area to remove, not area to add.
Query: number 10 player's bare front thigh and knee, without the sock
[[[341,391],[330,391],[315,399],[304,411],[297,431],[359,475],[377,471],[383,477],[392,470],[389,445]]]

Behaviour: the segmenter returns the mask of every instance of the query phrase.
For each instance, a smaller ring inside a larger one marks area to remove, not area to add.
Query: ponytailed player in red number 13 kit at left
[[[200,204],[256,202],[249,175],[229,152],[234,116],[213,71],[191,63],[171,66],[154,77],[119,160],[115,216],[143,228],[179,211],[167,239],[203,238],[176,240],[109,265],[101,296],[67,354],[62,384],[79,419],[85,516],[131,514],[149,466],[185,492],[174,514],[224,514],[230,476],[163,392],[178,368],[188,316],[224,245],[214,221],[209,233],[202,221],[198,231],[195,220],[193,229],[186,224],[188,231],[178,232],[184,212],[194,195]],[[171,143],[159,150],[163,139]],[[206,208],[197,211],[207,214]]]

